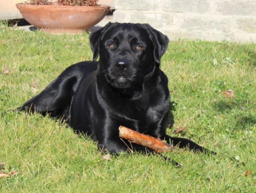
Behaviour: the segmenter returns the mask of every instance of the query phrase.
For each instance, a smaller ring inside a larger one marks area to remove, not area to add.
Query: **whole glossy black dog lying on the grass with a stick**
[[[93,61],[68,67],[18,110],[68,119],[75,131],[113,153],[131,148],[119,138],[120,125],[180,148],[208,152],[191,140],[166,135],[170,96],[159,66],[168,41],[148,24],[109,23],[90,35]],[[132,148],[146,151],[139,145]]]

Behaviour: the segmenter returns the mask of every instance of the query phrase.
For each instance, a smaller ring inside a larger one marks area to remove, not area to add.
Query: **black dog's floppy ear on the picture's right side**
[[[169,39],[166,35],[162,34],[158,30],[152,28],[149,24],[144,24],[149,37],[154,45],[154,58],[155,62],[160,65],[161,57],[164,55]]]

